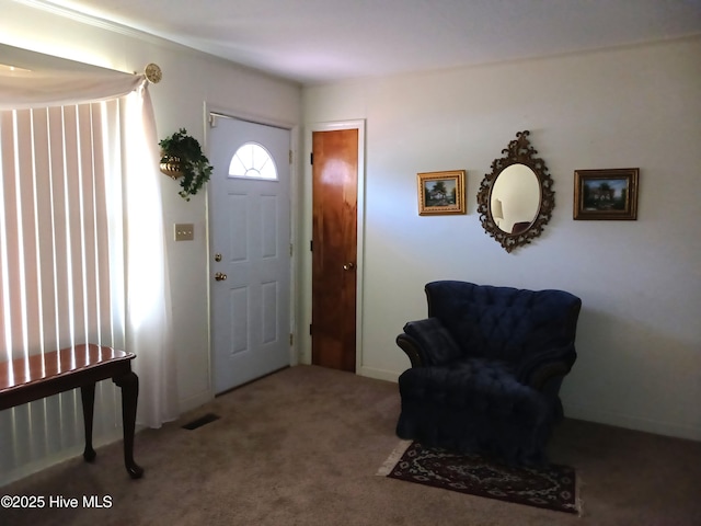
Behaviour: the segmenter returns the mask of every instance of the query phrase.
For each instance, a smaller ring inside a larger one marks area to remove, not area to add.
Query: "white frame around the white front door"
[[[289,149],[292,152],[292,162],[290,162],[289,164],[289,199],[290,199],[290,206],[289,206],[289,210],[290,210],[290,239],[289,239],[289,243],[291,244],[292,249],[292,253],[290,256],[290,264],[289,264],[289,272],[290,272],[290,276],[289,276],[289,284],[290,284],[290,295],[289,295],[289,333],[292,335],[292,342],[289,346],[289,363],[290,366],[294,365],[298,365],[299,364],[299,352],[297,351],[298,348],[300,348],[300,342],[299,342],[299,336],[298,336],[298,331],[297,331],[297,313],[298,313],[298,305],[295,300],[295,298],[298,295],[298,279],[297,276],[299,275],[298,273],[298,268],[299,268],[299,260],[300,260],[300,250],[298,247],[297,238],[298,238],[298,225],[299,225],[299,217],[300,217],[300,211],[299,211],[299,195],[300,195],[300,178],[299,178],[299,165],[302,162],[299,156],[299,125],[292,124],[292,123],[288,123],[285,121],[276,121],[276,119],[272,119],[268,117],[263,117],[261,115],[255,115],[255,114],[249,114],[249,113],[244,113],[244,112],[240,112],[240,111],[235,111],[235,110],[231,110],[228,108],[226,106],[220,106],[220,105],[216,105],[216,104],[210,104],[205,102],[205,112],[204,112],[204,128],[205,128],[205,140],[204,140],[204,150],[207,155],[209,155],[209,146],[210,146],[210,141],[209,141],[209,134],[211,133],[211,128],[209,126],[209,116],[210,114],[217,114],[219,115],[221,118],[226,118],[226,117],[230,117],[230,118],[235,118],[239,121],[245,121],[249,123],[254,123],[254,124],[262,124],[265,126],[275,126],[277,128],[283,128],[283,129],[288,129],[290,133],[290,145],[289,145]],[[209,386],[208,386],[208,390],[209,390],[209,399],[212,399],[215,397],[215,381],[214,381],[214,347],[212,347],[212,341],[211,341],[211,300],[212,300],[212,295],[211,295],[211,288],[215,285],[214,279],[211,278],[212,276],[212,261],[210,258],[210,252],[211,252],[211,225],[214,224],[212,221],[212,211],[214,211],[214,207],[212,207],[212,203],[211,203],[211,194],[209,192],[209,185],[206,185],[206,199],[207,199],[207,210],[206,210],[206,254],[205,258],[207,260],[207,264],[205,265],[207,268],[207,346],[208,346],[208,353],[207,353],[207,368],[209,371],[208,375],[208,381],[209,381]]]

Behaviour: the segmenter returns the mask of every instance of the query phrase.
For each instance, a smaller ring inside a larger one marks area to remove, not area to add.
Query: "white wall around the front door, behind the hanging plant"
[[[88,23],[3,2],[0,42],[122,71],[143,71],[149,62],[163,70],[163,80],[150,87],[159,137],[181,127],[205,145],[205,104],[233,115],[299,125],[301,89],[165,41],[114,25]],[[2,58],[2,57],[0,57]],[[172,283],[174,342],[177,354],[182,411],[211,397],[209,388],[207,196],[183,201],[176,182],[161,180],[169,267]],[[195,225],[195,240],[173,241],[173,225]],[[145,258],[148,254],[145,254]]]

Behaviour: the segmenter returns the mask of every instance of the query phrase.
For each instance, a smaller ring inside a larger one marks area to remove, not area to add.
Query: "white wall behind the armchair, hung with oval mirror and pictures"
[[[701,439],[699,57],[693,38],[306,88],[307,127],[367,119],[360,373],[409,367],[394,338],[425,316],[428,281],[562,288],[584,302],[567,414]],[[475,197],[522,129],[555,209],[541,238],[508,254]],[[606,168],[640,168],[639,219],[574,221],[574,170]],[[420,217],[416,173],[456,169],[468,171],[468,214]]]

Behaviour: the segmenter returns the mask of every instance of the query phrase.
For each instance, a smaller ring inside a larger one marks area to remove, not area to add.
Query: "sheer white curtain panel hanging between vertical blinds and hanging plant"
[[[137,422],[160,427],[177,418],[170,278],[159,184],[163,175],[158,170],[160,152],[146,82],[127,96],[126,104],[126,350],[137,355]]]

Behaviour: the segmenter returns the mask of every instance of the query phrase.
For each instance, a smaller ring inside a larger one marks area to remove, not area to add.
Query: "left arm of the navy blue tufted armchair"
[[[409,355],[412,367],[440,365],[462,355],[438,318],[410,321],[404,325],[404,333],[397,336],[397,344]]]

